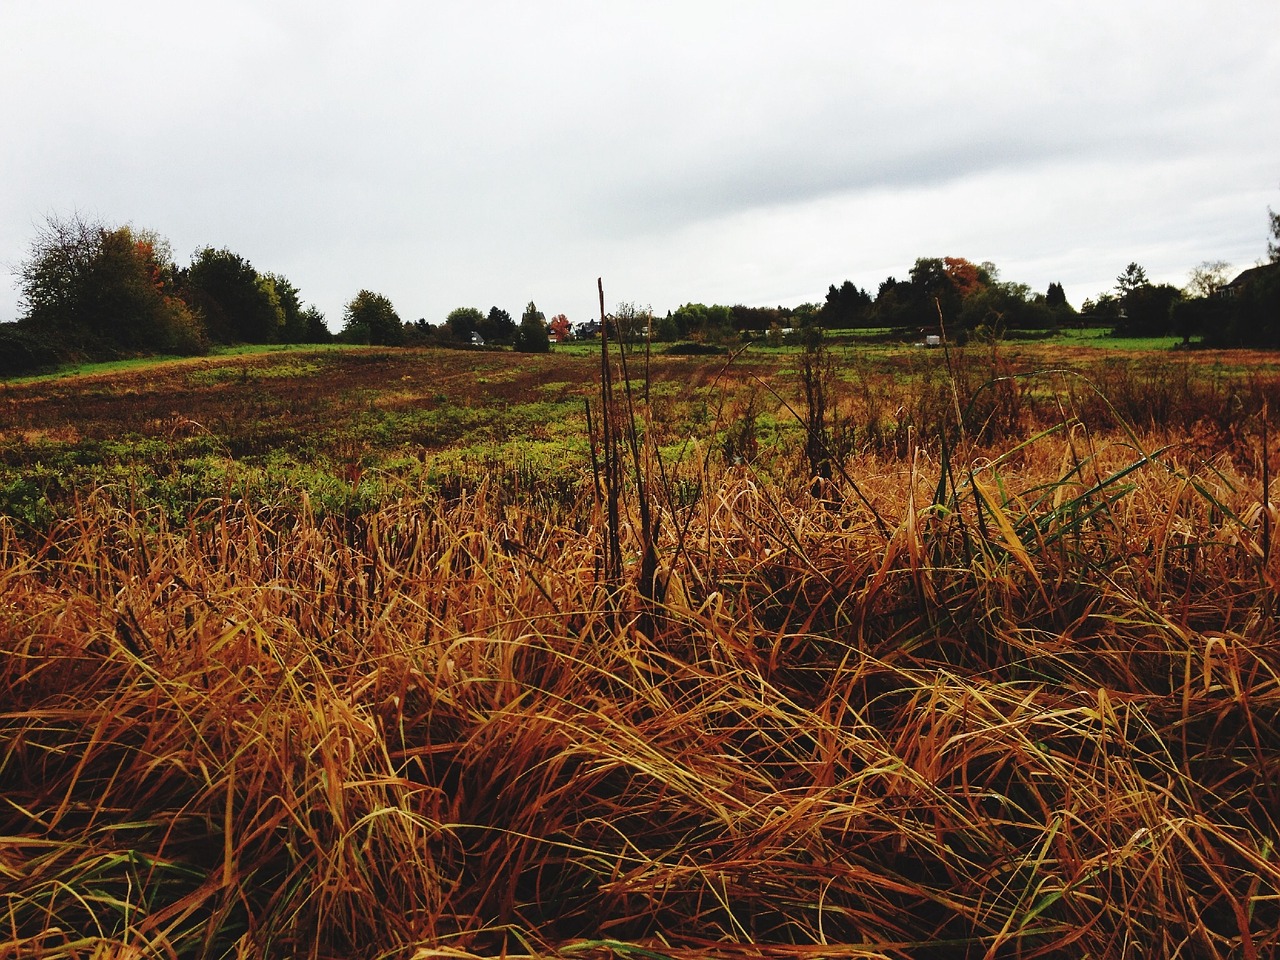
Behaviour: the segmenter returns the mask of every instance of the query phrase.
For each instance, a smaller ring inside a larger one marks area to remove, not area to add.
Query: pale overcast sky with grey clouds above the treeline
[[[1079,306],[1266,256],[1276,0],[0,0],[0,323],[49,218],[287,276],[333,329],[795,306],[918,257]]]

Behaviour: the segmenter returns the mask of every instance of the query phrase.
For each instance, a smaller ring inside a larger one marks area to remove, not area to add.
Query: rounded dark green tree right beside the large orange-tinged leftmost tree
[[[278,343],[284,310],[274,283],[225,247],[197,251],[184,278],[192,306],[220,343]]]

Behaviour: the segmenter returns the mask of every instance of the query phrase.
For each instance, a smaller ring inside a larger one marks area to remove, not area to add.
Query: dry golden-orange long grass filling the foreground
[[[703,467],[657,586],[586,485],[0,521],[0,954],[1274,955],[1275,507],[1144,443]]]

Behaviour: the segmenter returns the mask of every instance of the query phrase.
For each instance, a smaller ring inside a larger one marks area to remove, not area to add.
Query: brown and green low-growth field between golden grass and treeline
[[[705,460],[746,426],[759,467],[782,476],[803,460],[800,358],[751,346],[654,353],[645,370],[636,353],[631,372],[648,378],[649,430],[668,458]],[[950,353],[837,346],[827,362],[842,456],[902,454],[908,434],[928,443],[957,415],[978,439],[1007,440],[1061,422],[1064,398],[1093,429],[1125,422],[1203,444],[1206,430],[1234,435],[1276,375],[1267,355],[1101,353],[1092,338]],[[406,484],[456,490],[481,477],[563,494],[589,467],[584,404],[598,375],[588,344],[549,356],[261,348],[12,383],[0,387],[0,509],[47,520],[77,493],[118,484],[174,517],[248,488],[343,511]],[[972,408],[957,413],[961,393]]]

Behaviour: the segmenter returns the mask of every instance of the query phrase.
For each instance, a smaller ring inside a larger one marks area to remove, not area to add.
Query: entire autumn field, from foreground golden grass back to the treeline
[[[1275,358],[808,362],[0,387],[0,956],[1280,952]]]

